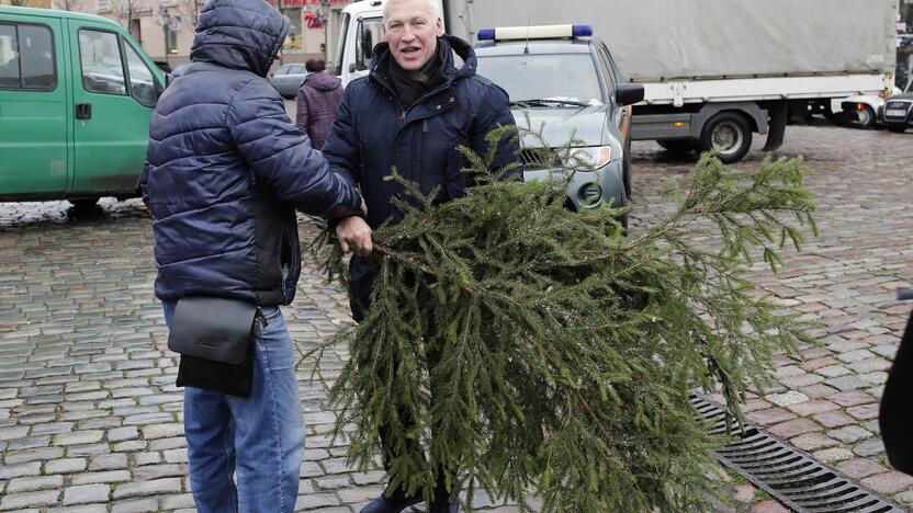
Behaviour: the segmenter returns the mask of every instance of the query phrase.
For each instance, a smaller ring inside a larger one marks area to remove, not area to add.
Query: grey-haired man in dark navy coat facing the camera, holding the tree
[[[384,176],[392,168],[416,182],[424,194],[440,186],[436,202],[461,196],[471,178],[461,173],[463,145],[480,155],[488,151],[485,135],[514,125],[507,93],[476,75],[476,58],[464,41],[446,36],[443,24],[428,0],[388,0],[384,8],[384,43],[374,48],[369,77],[346,89],[336,123],[323,151],[334,171],[348,173],[361,186],[368,218],[342,220],[337,235],[343,249],[348,242],[371,250],[371,230],[402,213],[391,197],[402,187]],[[463,59],[454,66],[453,54]],[[498,145],[494,166],[517,159],[517,142],[506,136]],[[372,264],[367,258],[350,262],[350,299],[354,319],[361,320],[369,306]],[[381,430],[384,438],[384,430]],[[386,445],[386,444],[384,444]],[[394,456],[384,447],[385,463]],[[432,512],[455,511],[458,503],[441,483]],[[398,512],[419,502],[402,489],[387,490],[362,513]]]

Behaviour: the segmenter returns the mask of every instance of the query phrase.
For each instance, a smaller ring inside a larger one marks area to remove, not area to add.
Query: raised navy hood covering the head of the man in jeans
[[[289,19],[262,0],[210,0],[190,59],[266,77],[289,33]]]

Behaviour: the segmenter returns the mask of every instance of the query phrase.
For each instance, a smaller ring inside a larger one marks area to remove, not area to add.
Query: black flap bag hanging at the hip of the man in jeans
[[[168,349],[181,355],[177,385],[250,397],[258,310],[238,299],[182,297],[168,334]]]

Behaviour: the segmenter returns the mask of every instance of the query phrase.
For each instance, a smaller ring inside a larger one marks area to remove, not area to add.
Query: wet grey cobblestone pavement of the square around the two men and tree
[[[669,209],[660,191],[692,161],[635,144],[631,223]],[[910,311],[913,134],[790,127],[780,155],[807,156],[821,237],[756,283],[822,322],[824,343],[804,360],[778,358],[778,385],[752,397],[749,419],[847,476],[903,503],[913,478],[889,469],[877,400]],[[756,166],[753,151],[740,166]],[[307,229],[303,229],[305,236]],[[176,355],[153,297],[150,223],[136,201],[75,213],[66,203],[0,204],[0,511],[192,511]],[[345,296],[303,270],[283,309],[302,361],[307,422],[297,510],[358,511],[382,489],[381,471],[353,472],[328,432],[326,391],[304,354],[348,322]],[[331,356],[339,368],[343,349]],[[747,485],[745,510],[782,511]],[[494,511],[516,508],[491,506]]]

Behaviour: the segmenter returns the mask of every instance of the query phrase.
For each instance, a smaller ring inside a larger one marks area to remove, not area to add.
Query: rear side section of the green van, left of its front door
[[[0,197],[60,194],[67,186],[69,92],[61,22],[0,20]]]

